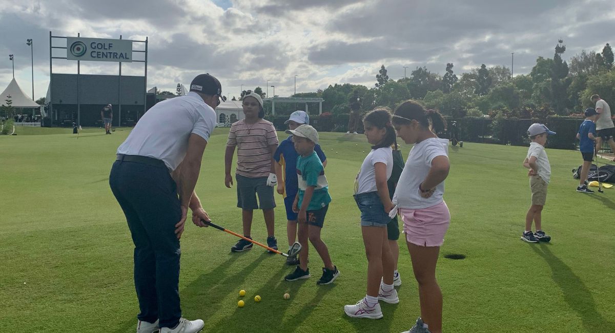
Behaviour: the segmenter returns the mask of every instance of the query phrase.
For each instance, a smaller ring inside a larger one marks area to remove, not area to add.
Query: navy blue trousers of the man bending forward
[[[175,235],[181,209],[175,181],[167,168],[116,161],[109,185],[135,243],[137,318],[149,323],[160,319],[160,327],[175,327],[181,318],[181,250]]]

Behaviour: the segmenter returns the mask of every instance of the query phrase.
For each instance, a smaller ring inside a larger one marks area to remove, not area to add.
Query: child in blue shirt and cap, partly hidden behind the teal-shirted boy
[[[284,123],[288,124],[290,130],[295,130],[300,125],[309,125],[309,116],[305,111],[295,111]],[[292,137],[293,136],[290,135],[287,139],[282,141],[273,156],[277,162],[277,179],[282,179],[282,181],[277,182],[277,192],[284,195],[284,206],[286,208],[286,218],[288,219],[286,230],[289,248],[295,243],[297,235],[297,213],[293,212],[293,200],[295,200],[295,196],[298,192],[296,166],[299,154],[295,150]],[[322,162],[323,167],[326,167],[327,157],[319,144],[315,145],[314,151],[318,155],[320,162]],[[286,263],[288,265],[297,265],[298,259],[296,259],[296,257],[289,257]]]

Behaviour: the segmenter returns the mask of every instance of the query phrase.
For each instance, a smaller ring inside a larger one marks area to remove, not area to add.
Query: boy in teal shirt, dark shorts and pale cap
[[[297,157],[299,192],[293,203],[293,211],[298,213],[297,236],[301,243],[299,253],[301,261],[295,272],[288,274],[284,280],[296,281],[311,276],[308,268],[309,239],[325,265],[322,268],[322,277],[316,284],[329,284],[339,276],[339,270],[331,262],[327,245],[320,239],[320,231],[325,222],[331,196],[325,169],[314,152],[314,146],[318,143],[318,132],[310,125],[301,125],[295,130],[287,130],[286,133],[293,135],[295,150],[299,154]]]

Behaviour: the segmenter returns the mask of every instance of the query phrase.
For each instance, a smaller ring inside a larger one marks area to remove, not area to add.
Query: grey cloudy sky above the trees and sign
[[[564,39],[565,59],[600,51],[615,35],[615,1],[608,0],[0,0],[0,89],[15,77],[34,96],[49,84],[49,31],[54,36],[149,38],[148,88],[175,91],[177,82],[209,72],[224,95],[240,85],[276,86],[276,95],[313,92],[329,84],[373,87],[381,65],[389,77],[403,66],[459,74],[485,63],[531,71],[536,58],[553,57]],[[62,40],[54,41],[62,45]],[[135,43],[135,49],[143,45]],[[55,50],[54,56],[65,56]],[[57,53],[56,53],[57,52]],[[140,55],[135,53],[134,58]],[[76,73],[76,61],[54,60],[54,72]],[[84,74],[117,74],[117,63],[82,61]],[[143,63],[124,75],[143,75]],[[269,94],[273,95],[272,88]]]

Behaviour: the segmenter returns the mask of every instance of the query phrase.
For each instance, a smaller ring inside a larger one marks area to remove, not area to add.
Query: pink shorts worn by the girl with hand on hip
[[[451,222],[445,202],[420,210],[400,208],[406,240],[418,246],[442,246]]]

